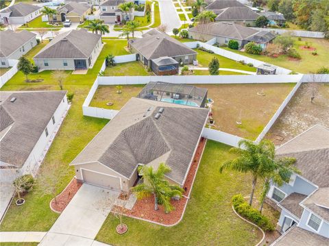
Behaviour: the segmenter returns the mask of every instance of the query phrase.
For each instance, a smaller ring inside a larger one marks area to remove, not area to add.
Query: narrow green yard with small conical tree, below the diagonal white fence
[[[219,56],[215,53],[208,53],[206,51],[202,51],[199,49],[194,49],[194,50],[197,51],[197,53],[198,53],[197,60],[199,61],[199,65],[201,65],[201,66],[208,66],[209,62],[215,56],[219,60],[219,67],[221,67],[221,68],[239,69],[239,70],[244,70],[244,71],[256,72],[256,68],[254,68],[253,66],[243,65],[240,62],[236,62],[229,58]]]

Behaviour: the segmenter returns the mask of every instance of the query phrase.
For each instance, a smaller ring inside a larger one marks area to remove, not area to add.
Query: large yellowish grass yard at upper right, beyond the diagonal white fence
[[[313,56],[312,51],[300,49],[303,45],[305,45],[306,41],[311,42],[310,46],[317,49],[317,56]],[[298,51],[298,53],[300,53],[300,56],[302,56],[302,60],[299,61],[289,60],[287,56],[271,58],[269,56],[250,55],[242,51],[235,51],[229,49],[228,47],[222,48],[235,53],[239,53],[243,56],[248,56],[250,58],[262,60],[264,62],[268,62],[277,66],[282,66],[285,69],[290,69],[297,73],[315,73],[322,66],[329,66],[329,40],[323,38],[302,38],[301,41],[298,41],[297,38],[295,38],[294,48]]]

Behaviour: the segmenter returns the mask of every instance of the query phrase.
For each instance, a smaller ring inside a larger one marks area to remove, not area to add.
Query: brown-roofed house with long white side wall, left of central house
[[[60,127],[68,102],[66,91],[0,92],[0,177],[36,174]]]

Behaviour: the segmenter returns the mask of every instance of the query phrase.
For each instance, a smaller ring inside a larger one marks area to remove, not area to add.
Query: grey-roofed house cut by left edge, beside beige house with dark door
[[[10,60],[18,60],[36,45],[36,34],[32,32],[0,32],[0,67],[9,67]]]

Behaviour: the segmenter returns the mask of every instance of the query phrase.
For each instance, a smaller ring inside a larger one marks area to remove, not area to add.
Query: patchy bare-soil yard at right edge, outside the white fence
[[[313,90],[317,93],[311,103]],[[313,125],[329,127],[328,112],[329,84],[303,83],[265,137],[282,145]]]

